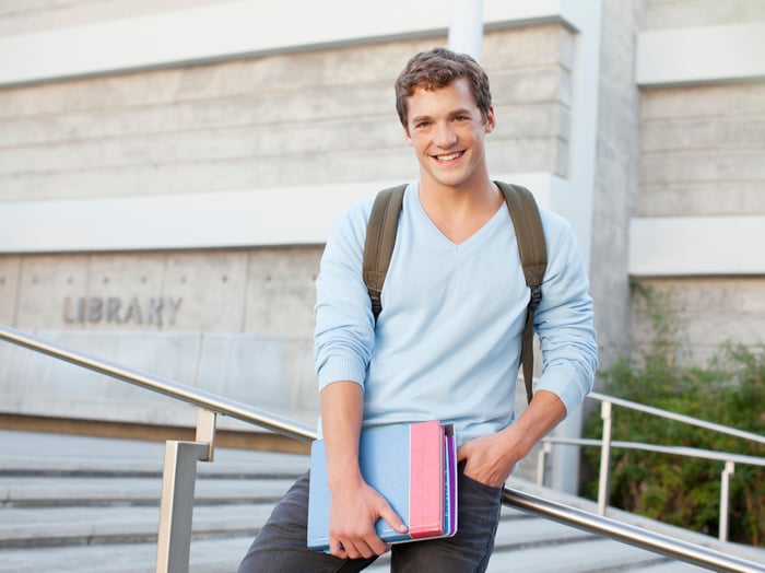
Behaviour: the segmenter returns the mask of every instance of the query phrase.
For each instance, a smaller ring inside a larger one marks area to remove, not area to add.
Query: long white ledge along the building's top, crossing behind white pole
[[[483,3],[485,24],[494,28],[567,20],[576,27],[582,17],[574,2]],[[0,85],[444,36],[451,19],[451,3],[435,0],[325,0],[299,8],[280,0],[246,0],[188,8],[2,38]]]

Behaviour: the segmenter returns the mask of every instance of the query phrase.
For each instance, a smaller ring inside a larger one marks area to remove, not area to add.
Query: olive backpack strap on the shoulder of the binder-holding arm
[[[364,282],[369,291],[375,320],[382,309],[380,294],[382,293],[385,276],[388,272],[388,265],[390,265],[390,257],[393,255],[396,231],[399,226],[399,213],[405,189],[407,185],[404,184],[378,192],[366,227],[363,273]]]

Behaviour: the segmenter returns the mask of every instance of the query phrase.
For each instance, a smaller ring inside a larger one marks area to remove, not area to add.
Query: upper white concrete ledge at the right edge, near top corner
[[[765,23],[643,32],[635,77],[644,87],[765,78]]]

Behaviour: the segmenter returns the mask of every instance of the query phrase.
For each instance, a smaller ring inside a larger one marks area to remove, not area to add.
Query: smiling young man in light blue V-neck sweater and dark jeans
[[[542,212],[548,245],[536,329],[543,373],[515,419],[529,290],[484,140],[494,130],[489,80],[469,56],[414,56],[396,83],[397,110],[420,163],[407,188],[375,321],[362,278],[372,201],[336,224],[317,281],[316,365],[331,492],[330,551],[306,547],[309,476],[255,539],[239,572],[360,571],[391,550],[397,572],[486,569],[502,487],[516,464],[591,389],[592,302],[576,241]],[[455,424],[460,475],[455,537],[384,543],[374,524],[405,530],[358,469],[362,426],[438,419]]]

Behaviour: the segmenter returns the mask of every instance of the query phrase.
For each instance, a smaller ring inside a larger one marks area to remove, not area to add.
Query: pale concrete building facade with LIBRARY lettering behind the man
[[[322,244],[352,201],[416,177],[392,84],[448,44],[443,4],[3,2],[0,324],[315,421]],[[672,294],[691,360],[762,343],[765,4],[472,5],[490,168],[572,222],[601,361],[650,338],[631,281]],[[193,422],[9,344],[0,388],[5,425]]]

